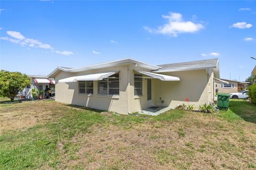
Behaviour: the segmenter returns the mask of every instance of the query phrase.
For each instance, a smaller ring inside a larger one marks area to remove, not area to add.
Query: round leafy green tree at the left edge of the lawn
[[[20,72],[0,71],[0,97],[8,97],[11,101],[19,91],[29,86],[30,78]]]

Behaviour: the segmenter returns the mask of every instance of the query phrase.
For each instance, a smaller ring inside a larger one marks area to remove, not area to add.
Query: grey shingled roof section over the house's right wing
[[[185,70],[201,70],[201,69],[215,69],[218,65],[218,58],[210,60],[199,60],[182,63],[162,64],[158,65],[162,68],[155,72],[172,72],[172,71],[185,71]]]

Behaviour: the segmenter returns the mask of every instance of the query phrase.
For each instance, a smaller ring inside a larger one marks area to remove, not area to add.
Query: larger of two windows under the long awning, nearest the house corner
[[[99,95],[119,95],[119,74],[99,81]]]

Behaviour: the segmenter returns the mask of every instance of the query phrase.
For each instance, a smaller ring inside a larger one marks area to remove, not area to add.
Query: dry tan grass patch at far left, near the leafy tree
[[[30,128],[57,118],[65,105],[51,100],[0,104],[0,134],[7,130]]]

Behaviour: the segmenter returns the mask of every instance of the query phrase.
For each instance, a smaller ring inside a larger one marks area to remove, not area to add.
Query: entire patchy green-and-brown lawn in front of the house
[[[256,105],[247,101],[153,117],[1,100],[0,169],[256,168]]]

